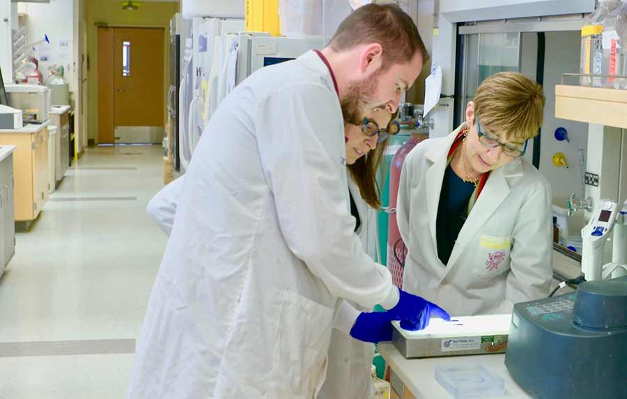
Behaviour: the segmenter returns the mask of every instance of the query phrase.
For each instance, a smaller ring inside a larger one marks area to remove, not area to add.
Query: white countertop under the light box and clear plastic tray
[[[449,399],[449,392],[435,380],[435,366],[481,363],[490,368],[505,382],[506,396],[493,399],[531,399],[511,378],[505,368],[505,355],[475,355],[428,357],[425,359],[405,359],[393,343],[379,343],[379,352],[405,386],[419,399]]]

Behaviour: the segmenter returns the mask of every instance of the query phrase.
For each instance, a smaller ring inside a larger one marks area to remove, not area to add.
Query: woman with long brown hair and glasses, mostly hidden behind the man
[[[380,259],[378,248],[377,209],[381,206],[376,186],[376,174],[387,147],[388,131],[398,131],[398,122],[390,119],[392,115],[385,109],[373,111],[369,116],[368,130],[365,125],[346,124],[346,165],[348,174],[348,191],[350,195],[350,214],[355,217],[355,233],[359,236],[364,251],[372,259]],[[380,126],[385,133],[378,134]],[[370,136],[369,136],[370,134]],[[383,140],[381,140],[383,139]],[[378,144],[379,142],[379,144]],[[176,209],[183,189],[185,175],[162,188],[150,199],[146,210],[157,226],[170,235]],[[363,309],[364,311],[368,311]],[[371,309],[370,309],[371,310]],[[343,320],[350,320],[352,314],[358,314],[353,304],[340,301],[336,305],[336,324],[331,335],[328,370],[325,383],[320,390],[318,399],[368,399],[373,396],[371,364],[374,345],[370,342],[357,341],[350,336],[351,325],[344,325]],[[353,318],[354,319],[354,318]],[[392,325],[388,323],[387,332],[377,338],[391,339]],[[389,334],[389,337],[385,337]]]

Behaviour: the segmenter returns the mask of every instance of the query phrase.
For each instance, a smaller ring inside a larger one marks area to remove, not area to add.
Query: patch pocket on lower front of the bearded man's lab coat
[[[311,399],[322,386],[334,309],[284,291],[268,398]]]

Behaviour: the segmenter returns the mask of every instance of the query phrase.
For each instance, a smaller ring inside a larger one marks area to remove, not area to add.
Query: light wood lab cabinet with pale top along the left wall
[[[0,129],[0,145],[16,147],[13,154],[16,222],[35,220],[48,199],[48,123]]]

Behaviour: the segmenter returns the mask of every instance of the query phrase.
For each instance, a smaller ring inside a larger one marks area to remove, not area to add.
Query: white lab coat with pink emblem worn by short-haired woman
[[[447,155],[464,126],[421,142],[405,159],[396,209],[409,250],[403,289],[455,316],[508,313],[513,303],[549,293],[550,185],[524,158],[491,172],[444,266],[435,220]]]

